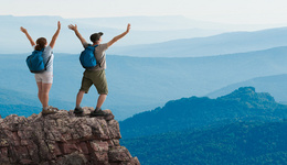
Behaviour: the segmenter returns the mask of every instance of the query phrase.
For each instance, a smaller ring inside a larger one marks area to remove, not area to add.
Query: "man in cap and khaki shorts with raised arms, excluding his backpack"
[[[77,31],[77,25],[68,25],[68,29],[71,29],[72,31],[75,32],[76,36],[79,38],[81,43],[83,44],[83,46],[86,48],[89,44],[85,41],[85,38],[82,37],[82,35],[79,34],[79,32]],[[89,36],[89,40],[93,42],[93,46],[95,47],[95,58],[97,62],[99,62],[99,65],[96,65],[95,68],[93,69],[86,69],[84,72],[84,76],[82,79],[82,86],[81,89],[77,94],[76,97],[76,108],[74,110],[75,114],[82,114],[83,113],[83,109],[81,108],[81,102],[82,99],[84,97],[84,94],[88,92],[88,89],[92,85],[94,85],[99,94],[98,100],[97,100],[97,106],[95,108],[95,110],[91,113],[91,117],[103,117],[106,116],[106,113],[100,109],[103,103],[106,100],[106,97],[108,95],[108,87],[107,87],[107,80],[106,80],[106,74],[105,74],[105,69],[106,69],[106,55],[105,55],[105,51],[110,47],[114,43],[116,43],[118,40],[123,38],[125,35],[127,35],[129,33],[130,30],[130,24],[127,25],[127,30],[115,36],[111,41],[109,41],[108,43],[105,44],[100,44],[102,43],[102,35],[103,33],[94,33]]]

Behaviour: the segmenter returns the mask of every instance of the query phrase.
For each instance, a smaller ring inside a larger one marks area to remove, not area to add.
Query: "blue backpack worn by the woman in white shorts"
[[[25,63],[30,69],[31,73],[43,73],[46,70],[46,65],[51,58],[51,56],[49,57],[46,64],[44,64],[44,61],[43,61],[43,50],[41,51],[33,51],[32,54],[30,56],[26,57],[25,59]]]

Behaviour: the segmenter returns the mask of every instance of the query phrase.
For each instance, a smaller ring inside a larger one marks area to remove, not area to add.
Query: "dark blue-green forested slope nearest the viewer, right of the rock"
[[[236,122],[120,142],[142,165],[284,165],[287,161],[286,129],[286,121]]]

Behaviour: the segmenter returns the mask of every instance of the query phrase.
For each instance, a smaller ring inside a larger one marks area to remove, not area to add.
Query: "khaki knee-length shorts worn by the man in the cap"
[[[99,95],[107,95],[108,87],[107,87],[107,79],[105,70],[85,70],[83,74],[82,79],[82,91],[88,92],[88,89],[92,85],[94,85],[97,89]]]

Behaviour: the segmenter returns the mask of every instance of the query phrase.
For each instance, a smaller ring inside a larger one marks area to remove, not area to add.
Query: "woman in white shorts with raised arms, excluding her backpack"
[[[40,74],[35,74],[35,80],[38,85],[38,98],[41,101],[43,108],[42,108],[42,114],[52,114],[56,113],[59,111],[57,108],[53,108],[52,106],[47,106],[49,102],[49,92],[53,84],[53,48],[56,42],[56,38],[59,36],[60,30],[61,30],[61,23],[57,22],[57,30],[55,34],[52,37],[52,41],[47,45],[46,38],[40,37],[36,40],[36,43],[32,40],[32,37],[29,35],[28,31],[24,28],[20,28],[20,30],[26,35],[28,40],[30,41],[32,47],[36,51],[43,50],[43,61],[46,64],[46,70]]]

